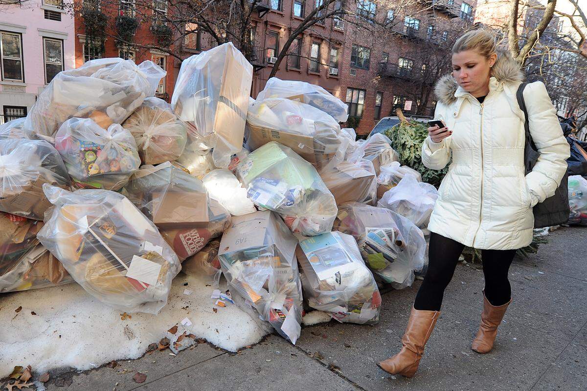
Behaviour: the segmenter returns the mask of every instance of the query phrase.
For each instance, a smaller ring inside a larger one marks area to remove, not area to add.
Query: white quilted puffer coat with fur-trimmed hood
[[[453,134],[439,143],[429,136],[422,162],[431,169],[452,162],[438,189],[430,231],[476,249],[519,249],[532,242],[532,206],[554,195],[569,145],[544,84],[528,84],[524,100],[540,157],[524,175],[524,113],[516,100],[521,81],[518,64],[505,53],[492,69],[483,104],[451,75],[438,81],[434,118]]]

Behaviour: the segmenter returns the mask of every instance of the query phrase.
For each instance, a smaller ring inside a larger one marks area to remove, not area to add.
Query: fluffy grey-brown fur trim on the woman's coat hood
[[[491,77],[503,83],[521,83],[524,80],[519,64],[512,59],[510,53],[504,51],[497,52],[497,61],[491,69]],[[458,84],[453,75],[446,74],[434,86],[434,96],[438,101],[448,105],[457,99],[454,96],[457,89]]]

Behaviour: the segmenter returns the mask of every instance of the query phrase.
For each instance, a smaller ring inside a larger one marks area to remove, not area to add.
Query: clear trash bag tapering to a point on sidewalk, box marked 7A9
[[[234,217],[218,251],[228,284],[292,344],[302,321],[297,244],[282,220],[265,210]]]

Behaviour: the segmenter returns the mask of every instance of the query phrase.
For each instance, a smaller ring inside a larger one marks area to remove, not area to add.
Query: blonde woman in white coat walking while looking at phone
[[[444,128],[428,129],[422,161],[448,173],[430,216],[429,268],[416,295],[403,348],[378,363],[411,377],[440,315],[444,289],[464,246],[481,249],[485,289],[481,325],[471,349],[491,351],[497,327],[511,302],[508,269],[517,249],[532,242],[532,207],[554,195],[566,171],[567,144],[543,83],[524,89],[529,128],[540,153],[524,175],[524,114],[516,91],[518,64],[497,52],[484,30],[461,36],[453,46],[453,74],[438,81],[434,117]]]

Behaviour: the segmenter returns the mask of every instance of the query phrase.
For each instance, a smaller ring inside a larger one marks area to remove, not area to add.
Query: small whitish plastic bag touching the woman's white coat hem
[[[377,206],[391,209],[410,219],[417,227],[425,228],[437,198],[438,191],[433,185],[406,175],[397,186],[383,194]]]

